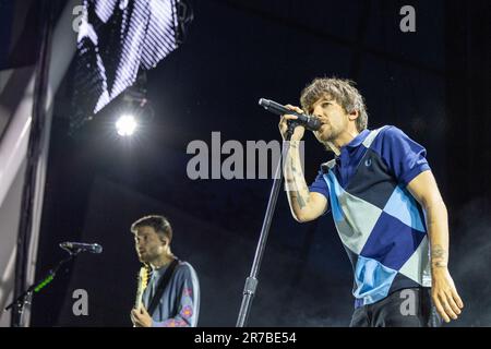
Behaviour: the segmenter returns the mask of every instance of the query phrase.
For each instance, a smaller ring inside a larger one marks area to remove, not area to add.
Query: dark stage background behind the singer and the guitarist
[[[466,308],[454,326],[491,324],[489,1],[190,1],[180,48],[147,73],[156,117],[116,135],[112,103],[68,134],[73,74],[60,88],[51,132],[37,275],[63,256],[60,241],[98,242],[33,303],[34,326],[131,326],[139,268],[129,227],[161,213],[173,251],[196,269],[200,326],[235,326],[271,180],[190,180],[187,146],[213,131],[221,143],[279,140],[261,97],[298,105],[313,77],[358,83],[369,128],[394,124],[423,144],[450,213],[450,268]],[[416,9],[402,33],[399,9]],[[306,178],[332,157],[306,135]],[[223,159],[226,156],[223,156]],[[297,224],[282,192],[250,325],[347,326],[351,267],[327,215]],[[72,293],[88,292],[88,316]]]

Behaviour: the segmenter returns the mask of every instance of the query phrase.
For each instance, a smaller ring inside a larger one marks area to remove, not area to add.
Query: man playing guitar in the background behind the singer
[[[200,284],[194,268],[170,251],[172,229],[164,216],[145,216],[133,222],[140,262],[152,268],[142,305],[131,311],[135,327],[195,327]]]

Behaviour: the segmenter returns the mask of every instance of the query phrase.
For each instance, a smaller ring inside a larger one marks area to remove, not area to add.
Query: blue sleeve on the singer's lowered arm
[[[427,151],[396,127],[383,132],[382,158],[398,183],[407,185],[419,173],[430,170]]]

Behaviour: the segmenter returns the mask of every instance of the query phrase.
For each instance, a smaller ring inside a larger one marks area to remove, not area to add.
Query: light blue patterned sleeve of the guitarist
[[[179,279],[177,314],[173,317],[152,323],[152,327],[195,327],[200,311],[200,284],[191,266],[176,270]]]

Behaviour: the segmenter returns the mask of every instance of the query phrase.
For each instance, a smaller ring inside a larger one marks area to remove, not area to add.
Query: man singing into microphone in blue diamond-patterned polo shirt
[[[288,108],[319,118],[313,133],[334,158],[308,186],[298,151],[304,128],[297,127],[284,167],[288,202],[299,222],[332,212],[355,274],[350,326],[456,320],[464,303],[448,272],[447,210],[426,149],[393,125],[368,130],[363,97],[351,81],[315,79],[300,103],[303,110]],[[282,117],[284,140],[296,118]]]

